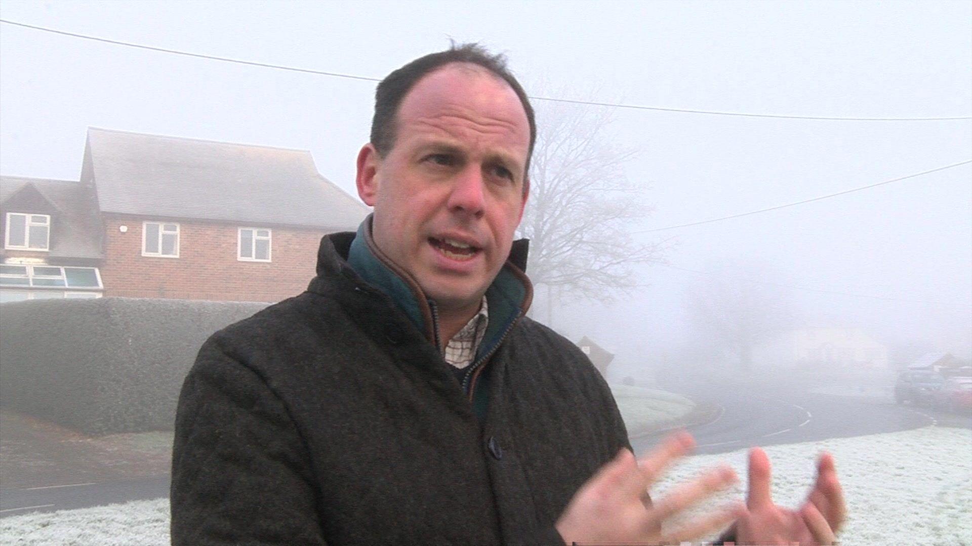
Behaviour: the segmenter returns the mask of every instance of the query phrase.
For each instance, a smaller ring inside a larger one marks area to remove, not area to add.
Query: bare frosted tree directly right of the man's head
[[[543,105],[520,236],[530,239],[535,284],[601,301],[639,283],[631,265],[658,260],[662,247],[637,243],[633,221],[648,216],[624,165],[634,151],[608,134],[606,108]]]

